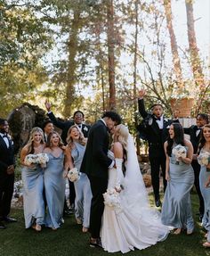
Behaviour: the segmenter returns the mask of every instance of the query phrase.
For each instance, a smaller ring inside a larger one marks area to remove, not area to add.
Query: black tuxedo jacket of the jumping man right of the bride
[[[168,128],[172,124],[173,120],[168,120],[164,118],[163,129],[158,127],[157,119],[154,115],[149,114],[145,110],[143,99],[138,100],[139,112],[141,117],[146,120],[144,133],[149,142],[149,156],[158,156],[164,153],[164,143],[166,142],[168,136]]]

